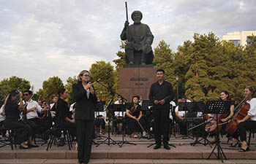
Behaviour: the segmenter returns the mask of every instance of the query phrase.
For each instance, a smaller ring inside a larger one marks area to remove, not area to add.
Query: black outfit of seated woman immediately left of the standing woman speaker
[[[66,121],[66,117],[72,120],[72,112],[69,112],[67,102],[59,98],[56,106],[56,128],[68,128],[70,135],[74,138],[77,136],[75,123]]]

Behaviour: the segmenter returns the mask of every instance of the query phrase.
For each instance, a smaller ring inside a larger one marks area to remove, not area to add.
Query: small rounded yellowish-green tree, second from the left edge
[[[49,77],[48,80],[42,82],[42,89],[38,90],[37,95],[40,95],[42,100],[50,101],[51,95],[58,95],[58,90],[63,87],[59,77]]]

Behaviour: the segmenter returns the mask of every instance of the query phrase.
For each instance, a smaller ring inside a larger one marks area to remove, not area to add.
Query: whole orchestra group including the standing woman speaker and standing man
[[[148,133],[152,130],[156,141],[154,149],[159,149],[161,142],[165,149],[170,149],[168,147],[170,131],[177,129],[171,129],[171,125],[176,122],[180,135],[186,136],[190,133],[194,136],[193,133],[197,129],[196,137],[200,133],[214,136],[212,143],[216,143],[217,135],[226,133],[227,136],[224,137],[227,137],[227,144],[230,147],[237,147],[238,144],[241,144],[240,152],[249,151],[246,131],[256,130],[256,96],[253,87],[245,87],[244,100],[236,108],[234,101],[231,100],[233,96],[230,96],[227,90],[221,91],[217,101],[230,102],[225,114],[208,114],[204,111],[195,110],[195,112],[190,113],[193,116],[188,117],[190,111],[182,108],[184,108],[184,104],[194,102],[189,101],[184,95],[178,97],[177,104],[172,101],[174,97],[172,87],[169,82],[164,80],[165,72],[159,69],[157,70],[157,82],[151,85],[149,92],[149,100],[153,106],[146,106],[146,109],[151,110],[151,112],[143,114],[140,95],[133,95],[131,103],[124,103],[122,98],[118,98],[116,103],[125,104],[126,110],[113,111],[113,119],[109,122],[108,116],[111,112],[99,111],[99,109],[97,111],[97,96],[91,83],[89,71],[81,71],[78,77],[78,84],[73,85],[72,88],[75,102],[70,105],[66,101],[69,95],[64,88],[59,89],[58,95],[52,95],[50,101],[34,101],[35,98],[33,98],[33,93],[30,90],[25,90],[23,93],[12,90],[6,96],[0,109],[0,123],[1,126],[16,131],[18,136],[15,137],[15,143],[20,144],[20,149],[39,147],[33,141],[33,138],[38,137],[36,136],[38,133],[45,133],[50,128],[68,128],[73,141],[78,141],[77,149],[80,163],[88,162],[91,141],[97,139],[95,133],[99,131],[98,133],[105,135],[105,124],[108,123],[112,124],[111,128],[115,135],[120,135],[124,130],[124,136],[132,136],[133,138],[147,138]],[[84,113],[83,108],[87,110],[86,113]],[[54,122],[50,122],[49,126],[45,126],[47,117],[49,119],[54,117]],[[198,120],[200,122],[197,122]],[[84,125],[86,125],[86,129]],[[198,127],[204,127],[202,128],[203,131]],[[200,133],[198,133],[199,129],[201,130]],[[39,132],[39,130],[42,131]],[[6,131],[1,132],[1,136],[5,137],[6,133]],[[77,134],[78,140],[76,140]],[[85,135],[86,140],[90,140],[86,143],[84,142]],[[88,150],[84,152],[83,149]]]

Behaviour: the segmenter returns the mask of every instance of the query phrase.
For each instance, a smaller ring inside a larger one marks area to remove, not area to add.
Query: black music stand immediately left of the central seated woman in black
[[[126,112],[127,110],[127,105],[126,104],[113,104],[113,112],[122,112],[122,114],[124,114],[124,112]],[[123,116],[124,117],[124,116]],[[125,120],[126,118],[123,118],[123,125],[122,125],[122,141],[119,141],[118,144],[119,147],[123,147],[123,144],[133,144],[136,145],[134,143],[131,143],[129,141],[124,141],[124,124],[125,124]]]

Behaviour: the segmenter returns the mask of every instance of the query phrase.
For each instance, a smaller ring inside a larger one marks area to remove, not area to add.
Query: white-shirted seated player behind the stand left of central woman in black
[[[118,104],[124,104],[122,99],[118,100]],[[124,124],[124,116],[126,112],[114,112],[113,125],[116,134],[121,134],[121,127]]]

